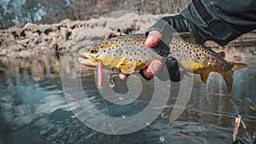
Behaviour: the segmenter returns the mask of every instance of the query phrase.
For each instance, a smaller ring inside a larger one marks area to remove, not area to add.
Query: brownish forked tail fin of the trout
[[[246,67],[247,64],[243,64],[243,63],[233,63],[233,62],[230,62],[230,65],[233,66],[230,71],[228,72],[219,72],[222,77],[224,78],[226,84],[227,84],[227,87],[228,87],[228,90],[229,92],[231,92],[231,89],[232,89],[232,84],[233,84],[233,72],[236,71],[236,70],[239,70],[243,67]]]

